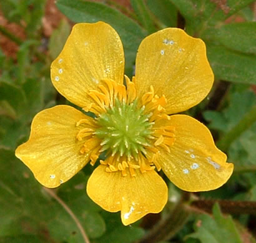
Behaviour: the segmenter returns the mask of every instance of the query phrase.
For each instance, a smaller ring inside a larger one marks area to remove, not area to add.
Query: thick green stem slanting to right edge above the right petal
[[[252,107],[240,122],[228,131],[221,140],[218,141],[217,146],[220,150],[227,151],[231,143],[238,138],[245,130],[247,130],[254,122],[256,122],[256,105]]]

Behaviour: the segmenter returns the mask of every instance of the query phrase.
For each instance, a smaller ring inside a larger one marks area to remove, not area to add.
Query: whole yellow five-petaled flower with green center
[[[76,24],[52,62],[51,79],[95,118],[67,105],[34,117],[16,156],[42,185],[59,186],[105,151],[87,193],[107,211],[121,211],[127,225],[165,206],[167,186],[156,170],[192,192],[219,188],[232,174],[206,126],[170,116],[199,103],[212,87],[202,40],[177,28],[151,34],[139,46],[130,82],[117,32],[104,22]]]

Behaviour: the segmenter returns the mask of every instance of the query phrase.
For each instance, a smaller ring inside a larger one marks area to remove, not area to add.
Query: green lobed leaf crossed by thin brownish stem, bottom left
[[[101,209],[86,194],[86,183],[87,178],[81,171],[61,186],[57,195],[60,195],[59,198],[76,215],[87,236],[94,239],[104,234],[106,224],[98,213]],[[81,232],[79,232],[71,216],[57,206],[54,211],[57,216],[53,217],[48,224],[51,235],[56,239],[65,239],[68,242],[82,242]]]

